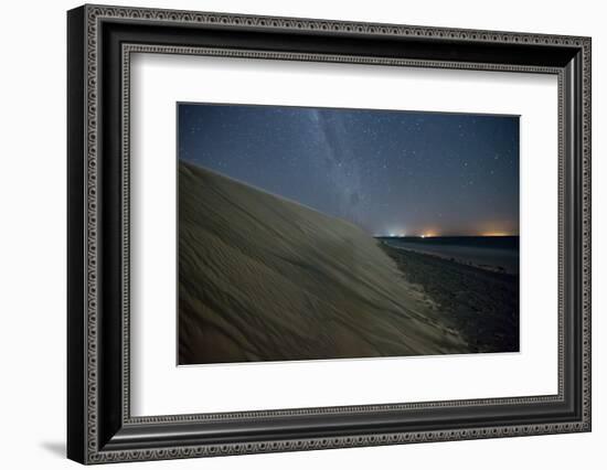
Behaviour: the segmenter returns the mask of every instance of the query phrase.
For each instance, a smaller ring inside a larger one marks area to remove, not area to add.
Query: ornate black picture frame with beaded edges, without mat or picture
[[[590,430],[590,40],[84,6],[67,14],[67,456],[83,463]],[[551,396],[131,417],[129,54],[556,74],[560,386]]]

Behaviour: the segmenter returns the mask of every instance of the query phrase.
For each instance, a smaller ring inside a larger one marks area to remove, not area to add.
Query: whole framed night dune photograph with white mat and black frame
[[[590,430],[590,39],[67,13],[67,455]]]

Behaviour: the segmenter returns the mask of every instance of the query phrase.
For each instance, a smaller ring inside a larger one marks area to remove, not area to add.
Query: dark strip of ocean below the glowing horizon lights
[[[519,274],[518,236],[377,237],[398,249],[440,256],[500,273]]]

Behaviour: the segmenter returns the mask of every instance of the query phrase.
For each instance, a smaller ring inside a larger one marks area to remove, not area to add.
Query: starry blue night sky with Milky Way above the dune
[[[179,104],[179,158],[371,235],[518,235],[519,117]]]

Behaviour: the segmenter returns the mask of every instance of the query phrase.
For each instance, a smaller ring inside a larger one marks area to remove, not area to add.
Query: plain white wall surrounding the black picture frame
[[[607,441],[607,31],[600,2],[511,0],[488,6],[388,0],[177,0],[111,1],[114,4],[392,22],[452,28],[593,36],[593,332],[594,424],[592,434],[464,442],[323,450],[188,461],[117,464],[111,468],[517,469],[530,460],[553,469],[599,468]],[[10,2],[0,29],[0,413],[7,468],[76,468],[65,447],[65,11],[79,2]],[[595,463],[596,462],[596,463]],[[130,467],[126,467],[130,466]]]

